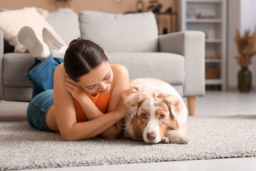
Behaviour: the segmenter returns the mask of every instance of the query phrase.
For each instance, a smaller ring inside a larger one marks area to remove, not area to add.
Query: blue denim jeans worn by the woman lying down
[[[27,119],[30,125],[39,130],[51,131],[46,125],[46,113],[53,105],[53,75],[60,63],[63,63],[63,58],[53,58],[50,54],[44,61],[36,59],[25,74],[33,83],[33,95],[28,104]]]

